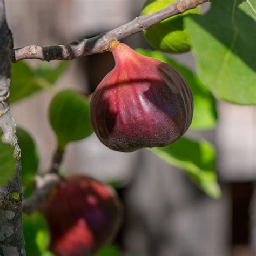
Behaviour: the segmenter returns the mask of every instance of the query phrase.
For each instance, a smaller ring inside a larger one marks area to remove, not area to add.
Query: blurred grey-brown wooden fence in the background
[[[55,45],[91,37],[139,15],[144,0],[8,0],[6,12],[15,48]],[[204,9],[208,5],[204,4]],[[151,49],[142,34],[124,41]],[[196,70],[191,52],[172,58]],[[30,60],[37,66],[38,60]],[[52,62],[55,65],[56,62]],[[92,92],[113,68],[111,53],[70,62],[56,84]],[[16,123],[34,136],[40,170],[49,169],[56,139],[48,122],[52,95],[42,91],[11,106]],[[103,181],[118,181],[125,219],[116,243],[131,256],[256,255],[256,110],[218,102],[214,130],[188,131],[217,147],[221,199],[201,192],[180,170],[146,150],[114,152],[95,134],[68,146],[63,167]]]

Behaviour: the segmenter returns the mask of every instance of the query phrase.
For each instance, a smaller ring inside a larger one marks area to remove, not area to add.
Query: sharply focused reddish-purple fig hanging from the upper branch
[[[132,152],[178,140],[192,121],[193,97],[170,65],[113,41],[116,65],[97,86],[90,118],[100,141]]]

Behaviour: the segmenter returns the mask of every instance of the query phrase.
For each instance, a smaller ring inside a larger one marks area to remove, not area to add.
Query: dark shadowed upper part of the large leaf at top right
[[[255,42],[256,24],[252,17],[239,8],[242,2],[244,1],[215,1],[204,16],[191,18],[240,58],[248,68],[255,71],[256,56],[253,42]]]

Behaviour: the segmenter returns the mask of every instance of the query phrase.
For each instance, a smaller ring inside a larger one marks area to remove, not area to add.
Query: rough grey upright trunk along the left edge
[[[15,175],[0,186],[0,255],[25,255],[22,231],[21,153],[15,134],[16,125],[9,110],[12,34],[5,17],[4,0],[0,0],[0,130],[2,139],[14,147]],[[15,193],[15,197],[13,196]],[[18,196],[17,196],[18,195]]]

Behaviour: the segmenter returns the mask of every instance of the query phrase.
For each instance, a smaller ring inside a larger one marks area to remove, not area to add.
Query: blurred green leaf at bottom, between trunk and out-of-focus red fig
[[[23,233],[26,255],[38,256],[48,248],[50,235],[42,213],[35,212],[30,216],[23,214]]]

